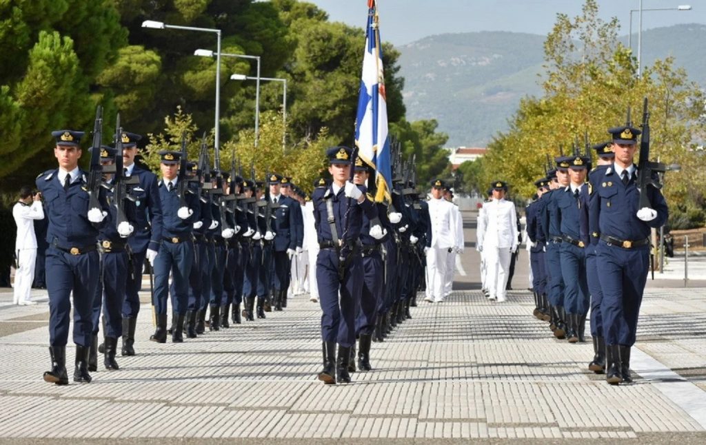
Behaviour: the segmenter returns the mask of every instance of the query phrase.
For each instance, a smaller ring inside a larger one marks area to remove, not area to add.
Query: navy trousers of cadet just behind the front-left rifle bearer
[[[102,257],[103,279],[95,288],[93,300],[93,334],[100,330],[100,310],[103,308],[103,336],[118,338],[123,334],[121,308],[125,298],[128,275],[127,252],[108,252]]]

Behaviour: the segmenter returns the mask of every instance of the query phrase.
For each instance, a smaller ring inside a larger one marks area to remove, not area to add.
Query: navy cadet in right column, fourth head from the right
[[[561,276],[561,229],[556,225],[554,214],[558,212],[558,196],[569,185],[569,161],[567,157],[560,156],[556,161],[556,181],[552,181],[548,193],[542,195],[546,204],[542,207],[542,231],[546,238],[546,273],[548,276],[549,291],[547,297],[552,308],[552,321],[549,329],[554,331],[557,339],[566,337],[566,314],[564,312],[564,281]]]

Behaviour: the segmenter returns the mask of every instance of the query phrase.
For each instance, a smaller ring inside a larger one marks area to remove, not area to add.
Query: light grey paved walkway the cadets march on
[[[526,287],[526,260],[515,288]],[[265,320],[163,345],[147,341],[145,304],[138,355],[119,357],[121,370],[50,385],[42,381],[47,304],[13,306],[2,289],[0,441],[706,441],[705,289],[647,291],[633,352],[638,378],[614,387],[587,371],[590,343],[554,340],[532,317],[530,293],[489,303],[475,290],[472,248],[462,265],[462,290],[413,308],[413,319],[373,343],[374,370],[336,386],[316,380],[321,312],[306,296]],[[73,348],[67,355],[72,363]]]

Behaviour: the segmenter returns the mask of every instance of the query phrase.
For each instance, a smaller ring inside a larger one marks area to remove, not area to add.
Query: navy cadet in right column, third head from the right
[[[568,160],[569,185],[555,192],[557,212],[554,224],[561,231],[561,276],[564,282],[564,308],[566,310],[566,337],[569,343],[584,342],[584,329],[590,297],[586,283],[587,239],[581,238],[580,212],[587,202],[581,196],[585,185],[590,159],[576,155]]]

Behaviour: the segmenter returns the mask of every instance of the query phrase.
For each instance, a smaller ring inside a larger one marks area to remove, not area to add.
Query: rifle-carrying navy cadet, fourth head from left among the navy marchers
[[[167,341],[167,298],[169,296],[169,272],[174,280],[174,314],[176,322],[172,331],[172,341],[184,341],[182,327],[189,306],[189,273],[193,262],[193,241],[191,237],[193,221],[198,221],[199,208],[196,197],[185,194],[186,206],[181,205],[178,193],[177,169],[180,152],[160,152],[162,180],[158,188],[162,201],[162,245],[155,258],[155,295],[152,304],[157,318],[157,329],[150,336],[151,341]]]

